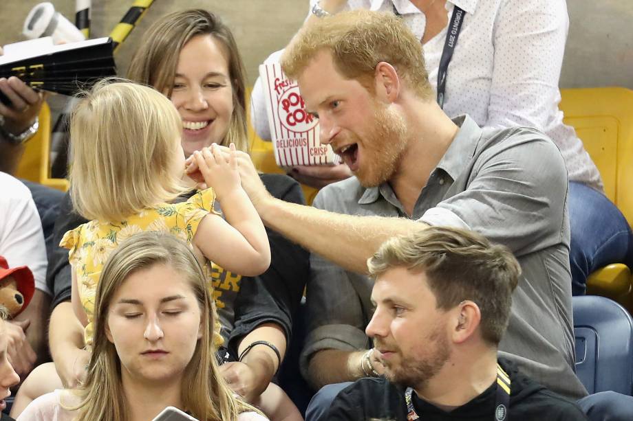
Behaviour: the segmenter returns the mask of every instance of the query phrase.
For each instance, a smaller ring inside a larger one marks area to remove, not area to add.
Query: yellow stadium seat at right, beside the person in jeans
[[[633,222],[633,91],[624,88],[561,90],[566,124],[600,170],[605,194]],[[587,293],[603,295],[633,310],[632,276],[624,264],[592,273]]]

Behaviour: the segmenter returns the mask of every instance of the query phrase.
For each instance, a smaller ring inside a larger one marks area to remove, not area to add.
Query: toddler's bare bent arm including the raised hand
[[[205,216],[193,242],[209,260],[240,275],[263,273],[270,264],[268,235],[253,203],[242,189],[235,158],[235,146],[228,161],[217,150],[204,148],[194,159],[208,187],[213,187],[226,220]]]

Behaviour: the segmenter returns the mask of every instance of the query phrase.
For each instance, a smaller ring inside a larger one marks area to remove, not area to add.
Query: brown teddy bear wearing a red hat
[[[0,306],[6,308],[10,319],[28,306],[35,292],[33,273],[27,266],[9,269],[5,258],[0,256]]]

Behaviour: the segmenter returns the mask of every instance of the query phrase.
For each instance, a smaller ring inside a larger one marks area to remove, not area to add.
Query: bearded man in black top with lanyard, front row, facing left
[[[429,227],[387,240],[367,266],[376,307],[367,335],[385,376],[343,389],[328,420],[587,419],[497,359],[521,273],[506,247]]]

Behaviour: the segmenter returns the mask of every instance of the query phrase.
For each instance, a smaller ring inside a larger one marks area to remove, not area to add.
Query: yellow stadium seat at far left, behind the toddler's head
[[[35,136],[26,142],[24,155],[15,176],[65,192],[68,190],[68,181],[50,177],[50,139],[50,109],[44,102],[39,114],[39,129]]]

